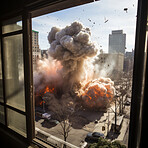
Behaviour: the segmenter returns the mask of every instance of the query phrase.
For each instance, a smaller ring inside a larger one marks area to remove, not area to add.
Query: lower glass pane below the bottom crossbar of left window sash
[[[7,109],[8,127],[26,137],[26,116]]]

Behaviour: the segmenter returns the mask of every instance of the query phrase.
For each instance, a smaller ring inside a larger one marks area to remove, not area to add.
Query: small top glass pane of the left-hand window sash
[[[9,20],[6,20],[2,23],[2,33],[8,33],[8,32],[13,32],[13,31],[17,31],[17,30],[21,30],[22,29],[22,18],[19,17],[15,17]]]

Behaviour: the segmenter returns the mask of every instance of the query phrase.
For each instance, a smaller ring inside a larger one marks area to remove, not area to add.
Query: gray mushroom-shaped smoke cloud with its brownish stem
[[[89,28],[84,28],[80,22],[73,22],[63,29],[53,27],[49,32],[49,55],[61,62],[61,74],[67,88],[82,79],[85,59],[97,54],[90,36]]]

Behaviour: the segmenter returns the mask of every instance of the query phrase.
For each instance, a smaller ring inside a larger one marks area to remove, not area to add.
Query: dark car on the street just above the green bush
[[[95,143],[95,142],[98,142],[99,137],[104,138],[105,136],[103,133],[99,133],[99,132],[88,133],[85,138],[85,141],[89,143]]]

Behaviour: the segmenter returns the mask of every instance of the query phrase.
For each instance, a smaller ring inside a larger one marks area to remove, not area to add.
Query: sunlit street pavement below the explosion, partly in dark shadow
[[[101,132],[107,135],[107,123],[108,123],[108,113],[102,113],[102,112],[79,112],[77,113],[76,116],[74,116],[71,121],[72,121],[72,127],[69,132],[69,136],[67,138],[67,142],[80,146],[81,141],[85,140],[86,135],[89,132]],[[110,122],[112,120],[112,117],[114,116],[113,113],[109,114],[109,119]],[[95,120],[98,120],[98,123],[94,123]],[[121,140],[123,141],[124,144],[127,145],[128,143],[128,130],[127,130],[127,122],[128,119],[124,119],[122,128],[121,128],[121,133],[115,137],[114,139]],[[63,136],[59,134],[61,131],[61,125],[51,125],[49,121],[45,121],[44,119],[38,118],[35,121],[35,126],[38,127],[39,129],[55,136],[60,139],[63,139]],[[102,126],[105,126],[106,130],[102,131]],[[111,127],[111,124],[110,124]],[[110,128],[109,128],[110,129]],[[40,137],[42,138],[42,137]]]

